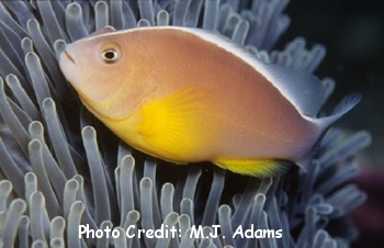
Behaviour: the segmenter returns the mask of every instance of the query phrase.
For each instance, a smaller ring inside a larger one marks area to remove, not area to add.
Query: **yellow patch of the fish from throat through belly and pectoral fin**
[[[194,162],[213,156],[215,131],[206,120],[212,111],[203,95],[181,90],[143,104],[125,120],[102,121],[136,149],[168,161]]]

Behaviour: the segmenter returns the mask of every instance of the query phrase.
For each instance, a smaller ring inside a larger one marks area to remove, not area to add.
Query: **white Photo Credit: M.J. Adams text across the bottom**
[[[201,225],[191,226],[189,233],[189,238],[201,239],[201,238],[226,238],[222,236],[221,226],[212,225],[211,228],[203,227]],[[210,232],[206,232],[210,229]],[[135,225],[131,225],[125,229],[125,236],[127,238],[181,238],[181,229],[178,229],[176,226],[161,225],[158,229],[143,229],[137,228]],[[113,229],[106,226],[104,229],[90,229],[89,225],[79,225],[79,238],[118,238],[122,235],[117,229]],[[253,224],[250,228],[242,228],[238,226],[231,238],[282,238],[282,229],[255,229]]]

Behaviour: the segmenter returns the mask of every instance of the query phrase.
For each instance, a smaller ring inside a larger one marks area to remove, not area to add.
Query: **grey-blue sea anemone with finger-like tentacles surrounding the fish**
[[[293,167],[261,180],[208,164],[177,167],[118,142],[81,108],[57,64],[66,43],[105,25],[179,25],[219,32],[266,63],[313,72],[325,56],[321,45],[306,49],[305,40],[297,37],[283,50],[272,50],[290,24],[282,13],[286,4],[1,1],[1,246],[349,246],[357,229],[347,214],[365,194],[348,182],[358,173],[353,154],[370,143],[369,133],[330,129],[307,173]],[[326,102],[335,82],[321,82]],[[191,235],[199,226],[200,235]],[[167,237],[139,233],[161,228]]]

